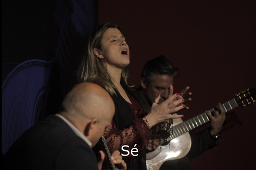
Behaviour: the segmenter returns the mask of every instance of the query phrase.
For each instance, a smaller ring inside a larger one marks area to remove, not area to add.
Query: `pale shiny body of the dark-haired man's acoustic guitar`
[[[173,126],[182,123],[181,118],[173,119]],[[158,146],[157,149],[147,153],[147,169],[159,169],[167,160],[175,160],[185,157],[191,147],[191,138],[189,132],[172,139],[165,146]]]

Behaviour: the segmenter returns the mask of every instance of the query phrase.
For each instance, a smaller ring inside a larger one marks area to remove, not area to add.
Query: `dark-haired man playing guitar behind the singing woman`
[[[170,63],[164,56],[156,57],[146,63],[141,74],[141,86],[135,90],[138,98],[140,98],[141,105],[145,112],[150,111],[150,106],[158,94],[161,95],[161,99],[159,100],[158,104],[166,100],[169,95],[172,95],[172,86],[174,78],[177,74],[178,68]],[[188,89],[189,87],[186,87],[180,92],[180,97],[184,98],[186,103],[191,100],[191,92],[188,92]],[[211,128],[205,130],[203,133],[201,133],[201,135],[199,135],[199,137],[192,139],[191,148],[187,156],[178,160],[167,160],[161,166],[161,170],[194,169],[189,162],[189,158],[195,158],[201,155],[207,149],[211,149],[221,142],[219,133],[223,122],[225,121],[225,112],[221,104],[219,104],[217,108],[219,108],[219,111],[221,112],[219,113],[215,111],[215,116],[212,116],[206,111],[206,114],[211,120]],[[170,127],[171,121],[166,121],[166,123],[169,123],[168,127]],[[151,141],[147,147],[149,151],[154,150],[157,148],[157,146],[159,146],[159,140]],[[203,145],[200,143],[203,143]]]

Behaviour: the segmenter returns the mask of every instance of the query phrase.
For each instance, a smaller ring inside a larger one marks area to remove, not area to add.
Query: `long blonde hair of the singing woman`
[[[122,30],[118,25],[110,23],[99,25],[95,30],[93,30],[87,37],[82,62],[79,64],[77,70],[77,78],[78,82],[98,81],[105,86],[110,95],[116,95],[116,87],[106,66],[103,64],[102,60],[93,53],[94,48],[102,50],[102,36],[109,28],[116,28],[122,33]],[[129,70],[126,66],[122,70],[121,79],[123,79],[127,84],[128,77]]]

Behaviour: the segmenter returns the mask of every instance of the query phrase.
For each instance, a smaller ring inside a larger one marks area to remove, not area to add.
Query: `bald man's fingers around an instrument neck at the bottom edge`
[[[100,150],[100,158],[101,159],[98,162],[98,169],[99,170],[108,169],[108,167],[102,166],[103,161],[105,159],[105,154],[101,150]],[[111,159],[113,160],[113,163],[115,164],[117,170],[126,170],[127,169],[126,163],[122,159],[122,156],[120,155],[120,152],[118,150],[113,152]]]

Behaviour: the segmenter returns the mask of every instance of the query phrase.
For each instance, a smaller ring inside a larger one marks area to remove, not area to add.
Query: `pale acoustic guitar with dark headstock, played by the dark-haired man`
[[[240,92],[235,96],[235,98],[222,104],[222,106],[226,113],[238,106],[245,107],[247,105],[254,104],[255,101],[256,90],[255,88],[252,88]],[[213,113],[214,110],[216,110],[216,108],[210,109],[209,112]],[[190,118],[185,122],[183,122],[181,118],[173,119],[172,135],[170,133],[171,130],[167,131],[167,135],[162,137],[161,145],[159,145],[154,151],[147,153],[147,169],[159,169],[167,160],[175,160],[185,157],[191,147],[189,131],[209,121],[210,119],[205,112],[196,117]]]

